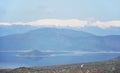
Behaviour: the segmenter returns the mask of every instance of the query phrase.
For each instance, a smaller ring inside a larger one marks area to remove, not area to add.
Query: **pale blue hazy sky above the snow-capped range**
[[[120,20],[120,0],[0,0],[0,22]]]

